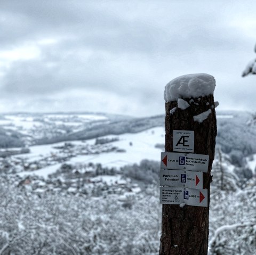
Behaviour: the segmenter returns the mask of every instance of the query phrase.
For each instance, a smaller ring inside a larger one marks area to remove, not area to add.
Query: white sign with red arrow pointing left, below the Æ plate
[[[181,169],[191,171],[207,172],[209,155],[203,154],[184,154],[177,152],[161,153],[161,168]]]

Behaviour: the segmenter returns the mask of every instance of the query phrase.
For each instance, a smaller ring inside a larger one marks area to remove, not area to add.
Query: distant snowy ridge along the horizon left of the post
[[[163,125],[163,116],[132,118],[103,113],[2,114],[0,136],[5,139],[0,142],[0,147],[51,144],[110,134],[138,133]]]

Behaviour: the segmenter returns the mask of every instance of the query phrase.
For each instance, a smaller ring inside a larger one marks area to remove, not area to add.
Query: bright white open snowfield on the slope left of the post
[[[127,164],[140,163],[143,159],[159,161],[164,139],[164,128],[150,128],[137,134],[104,136],[104,143],[97,144],[99,139],[86,141],[62,142],[50,145],[30,147],[30,152],[13,156],[28,166],[19,175],[36,174],[47,177],[57,170],[63,162],[68,164],[100,163],[103,167],[124,167]],[[113,141],[113,142],[111,142]],[[35,170],[39,169],[39,170]]]

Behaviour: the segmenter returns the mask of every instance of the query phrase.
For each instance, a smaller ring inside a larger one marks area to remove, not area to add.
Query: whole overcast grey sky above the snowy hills
[[[256,1],[0,1],[0,111],[163,114],[165,85],[215,77],[218,109],[256,110]]]

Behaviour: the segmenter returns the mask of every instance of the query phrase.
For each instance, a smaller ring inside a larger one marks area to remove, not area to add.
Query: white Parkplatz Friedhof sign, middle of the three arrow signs
[[[159,177],[160,186],[203,188],[203,172],[160,169]]]

